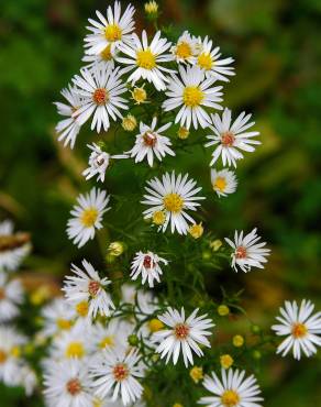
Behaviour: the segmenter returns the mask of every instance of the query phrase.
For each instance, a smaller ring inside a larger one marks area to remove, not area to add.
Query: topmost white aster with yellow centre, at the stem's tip
[[[135,9],[129,4],[121,13],[121,3],[115,1],[113,8],[108,7],[106,16],[96,11],[98,20],[88,19],[90,31],[85,37],[85,47],[88,55],[101,55],[103,53],[114,53],[121,44],[131,42],[131,34],[135,29]]]

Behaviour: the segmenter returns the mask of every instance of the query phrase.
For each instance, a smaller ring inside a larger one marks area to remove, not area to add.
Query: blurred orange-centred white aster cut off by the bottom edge
[[[78,360],[48,363],[44,387],[48,407],[92,407],[88,367]]]

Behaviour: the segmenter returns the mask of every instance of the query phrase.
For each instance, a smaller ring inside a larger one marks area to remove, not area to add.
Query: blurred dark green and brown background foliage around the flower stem
[[[0,3],[0,216],[31,231],[33,280],[62,276],[79,256],[65,226],[75,195],[86,189],[80,173],[87,152],[79,147],[86,135],[73,154],[63,150],[55,141],[52,102],[81,66],[87,18],[106,6]],[[251,317],[270,324],[286,298],[308,297],[320,308],[321,2],[167,0],[160,8],[174,32],[210,35],[223,55],[235,58],[236,77],[225,87],[224,102],[252,111],[262,134],[263,145],[237,166],[237,194],[211,219],[219,237],[258,226],[273,249],[267,272],[241,276]],[[136,18],[141,29],[142,13]],[[263,360],[265,406],[319,406],[320,361],[320,355],[300,363]]]

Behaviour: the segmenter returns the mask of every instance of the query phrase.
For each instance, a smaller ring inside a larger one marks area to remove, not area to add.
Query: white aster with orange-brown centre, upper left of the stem
[[[81,76],[76,75],[73,81],[82,103],[73,117],[82,125],[93,114],[91,130],[96,129],[99,133],[102,128],[108,131],[110,118],[113,121],[117,121],[117,118],[122,119],[120,109],[128,109],[126,99],[120,96],[126,91],[126,86],[120,79],[119,68],[98,64],[90,70],[81,69],[80,74]]]

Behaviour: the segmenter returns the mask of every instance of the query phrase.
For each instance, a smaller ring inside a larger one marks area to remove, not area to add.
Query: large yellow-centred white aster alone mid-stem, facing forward
[[[204,197],[197,197],[196,195],[202,189],[196,188],[196,182],[188,179],[188,174],[182,176],[179,174],[177,177],[175,172],[171,174],[166,173],[163,175],[162,180],[153,178],[147,182],[145,187],[148,195],[144,195],[144,205],[151,208],[146,209],[143,213],[145,218],[152,218],[156,211],[162,211],[165,215],[165,221],[159,227],[163,232],[167,229],[170,222],[170,231],[175,229],[179,234],[187,234],[189,223],[195,223],[195,220],[187,213],[187,210],[196,210],[200,206],[197,200],[204,199]]]

